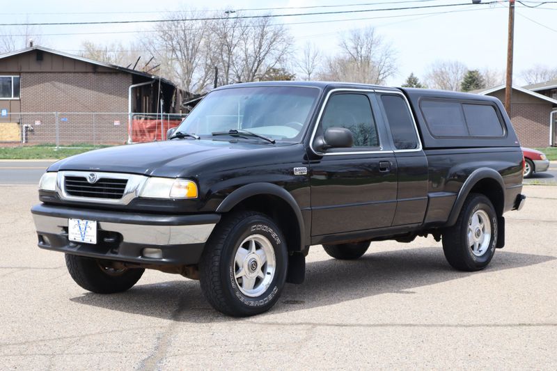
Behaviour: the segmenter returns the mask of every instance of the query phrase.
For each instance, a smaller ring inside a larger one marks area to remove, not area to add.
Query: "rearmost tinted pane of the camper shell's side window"
[[[462,104],[462,109],[471,136],[503,136],[501,120],[499,120],[494,106]]]

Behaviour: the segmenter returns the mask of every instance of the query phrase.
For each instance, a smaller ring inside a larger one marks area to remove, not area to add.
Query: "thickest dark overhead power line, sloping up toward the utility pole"
[[[480,5],[489,5],[493,3],[498,3],[498,1],[488,1],[485,3],[480,3]],[[316,12],[316,13],[238,15],[237,17],[194,17],[194,18],[178,18],[178,19],[142,19],[142,20],[99,21],[99,22],[25,22],[25,23],[3,23],[0,24],[0,26],[70,26],[70,25],[73,26],[73,25],[85,25],[85,24],[137,24],[137,23],[191,22],[191,21],[212,21],[212,20],[222,20],[222,19],[253,19],[253,18],[298,17],[298,16],[306,16],[306,15],[354,14],[354,13],[386,12],[391,10],[448,8],[448,7],[469,6],[469,5],[470,3],[455,3],[455,4],[436,4],[436,5],[428,5],[428,6],[407,6],[403,8],[336,10],[330,12]]]

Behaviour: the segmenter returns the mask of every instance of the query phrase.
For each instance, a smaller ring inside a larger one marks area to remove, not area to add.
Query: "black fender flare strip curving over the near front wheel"
[[[271,195],[281,198],[283,201],[288,203],[294,214],[296,215],[296,219],[298,222],[298,228],[300,231],[300,242],[299,248],[295,248],[292,246],[293,250],[303,250],[305,246],[305,235],[306,235],[306,228],[304,226],[304,217],[301,215],[301,210],[290,193],[286,191],[286,189],[279,187],[276,184],[272,183],[251,183],[246,184],[238,189],[235,189],[231,194],[226,196],[224,200],[222,200],[219,207],[217,207],[218,213],[229,212],[233,209],[237,204],[241,203],[246,198],[251,196],[258,196],[258,195]]]

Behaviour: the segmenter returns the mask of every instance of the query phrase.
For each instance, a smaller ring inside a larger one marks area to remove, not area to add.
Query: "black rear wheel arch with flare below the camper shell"
[[[505,207],[505,182],[503,177],[492,168],[478,168],[464,181],[457,199],[450,210],[447,227],[454,226],[464,201],[471,193],[483,194],[492,202],[497,216],[503,215]]]

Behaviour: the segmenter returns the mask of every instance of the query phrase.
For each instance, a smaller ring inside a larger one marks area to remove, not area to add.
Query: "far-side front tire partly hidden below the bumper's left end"
[[[103,261],[79,255],[65,254],[65,265],[75,283],[97,294],[114,294],[132,288],[145,269],[113,269]]]

